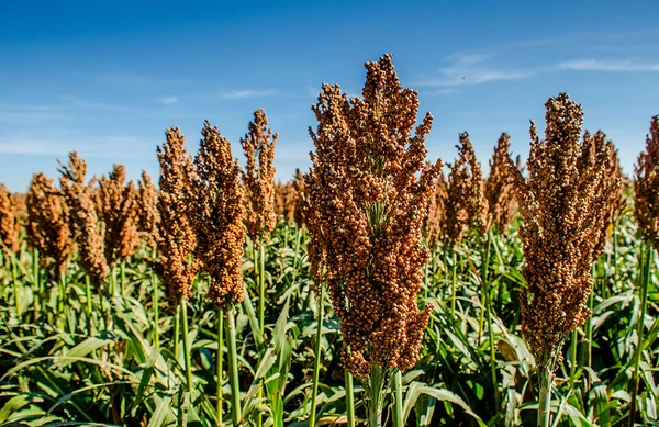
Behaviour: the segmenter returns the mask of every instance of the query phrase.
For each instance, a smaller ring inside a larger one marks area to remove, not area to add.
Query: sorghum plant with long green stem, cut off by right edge
[[[646,150],[638,156],[635,167],[636,180],[634,182],[634,216],[638,223],[638,231],[644,240],[645,250],[640,255],[639,293],[640,315],[637,321],[637,347],[634,353],[634,380],[632,385],[632,402],[629,411],[629,427],[634,426],[636,418],[636,400],[639,384],[639,366],[643,355],[645,337],[645,317],[648,304],[648,288],[650,283],[651,266],[655,258],[652,248],[659,250],[659,115],[650,122],[650,134],[646,138]]]

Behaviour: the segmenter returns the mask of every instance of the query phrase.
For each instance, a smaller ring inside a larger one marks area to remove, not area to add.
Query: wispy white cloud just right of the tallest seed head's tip
[[[451,55],[447,58],[449,64],[438,69],[439,77],[421,81],[421,85],[439,87],[482,85],[499,80],[516,80],[533,75],[529,70],[496,67],[489,61],[490,57],[490,55]]]

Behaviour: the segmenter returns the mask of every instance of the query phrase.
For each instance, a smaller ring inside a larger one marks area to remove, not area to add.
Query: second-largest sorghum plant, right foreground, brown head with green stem
[[[550,98],[545,139],[530,127],[528,178],[515,172],[514,187],[524,217],[527,290],[520,295],[522,333],[535,358],[539,381],[538,425],[550,425],[552,375],[565,339],[591,312],[591,266],[613,191],[597,192],[606,156],[579,170],[583,112],[565,93]],[[510,167],[514,168],[512,160]],[[515,169],[513,169],[514,171]]]

